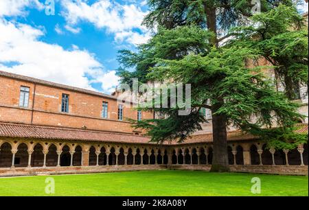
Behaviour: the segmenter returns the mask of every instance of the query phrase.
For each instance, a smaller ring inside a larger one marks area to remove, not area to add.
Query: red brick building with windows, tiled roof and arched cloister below
[[[209,170],[212,135],[185,143],[151,143],[126,118],[150,119],[113,95],[0,71],[0,176],[123,170]],[[307,105],[304,106],[308,110]],[[308,133],[308,124],[296,132]],[[238,130],[228,133],[234,172],[308,174],[308,145],[266,150]]]

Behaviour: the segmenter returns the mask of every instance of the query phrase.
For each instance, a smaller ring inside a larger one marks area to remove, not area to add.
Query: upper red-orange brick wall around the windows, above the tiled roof
[[[0,121],[31,123],[34,84],[0,77]],[[28,108],[19,107],[21,86],[30,87]],[[87,93],[59,89],[43,84],[36,84],[34,96],[33,124],[47,126],[64,126],[115,132],[135,132],[124,121],[118,121],[117,100]],[[62,93],[69,95],[69,113],[61,113]],[[102,119],[102,102],[108,102],[108,119]],[[142,113],[144,119],[152,118],[152,113]],[[137,110],[124,107],[124,118],[137,119]]]

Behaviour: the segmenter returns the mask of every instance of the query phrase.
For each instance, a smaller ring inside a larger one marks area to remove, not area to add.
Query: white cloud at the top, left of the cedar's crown
[[[143,12],[135,4],[121,5],[111,0],[98,0],[93,4],[88,4],[87,0],[63,0],[61,3],[64,8],[62,16],[68,25],[88,21],[95,27],[115,34],[116,41],[135,45],[145,43],[150,37],[146,27],[141,25],[148,12]]]

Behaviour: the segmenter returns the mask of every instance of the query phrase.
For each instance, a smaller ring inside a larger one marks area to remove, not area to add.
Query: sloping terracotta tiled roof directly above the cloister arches
[[[299,124],[297,133],[308,133],[308,124]],[[150,143],[149,137],[127,135],[116,132],[102,132],[95,130],[82,130],[73,128],[58,128],[51,126],[34,126],[28,124],[12,124],[0,122],[0,137],[33,138],[33,139],[58,139],[76,141],[102,141],[111,143]],[[247,141],[257,137],[235,130],[227,133],[227,141]],[[211,143],[212,133],[192,135],[187,143]],[[177,144],[173,141],[172,144]]]

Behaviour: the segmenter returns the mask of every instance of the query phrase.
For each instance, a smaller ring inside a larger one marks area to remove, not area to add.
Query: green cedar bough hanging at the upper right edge
[[[279,5],[256,14],[249,27],[236,27],[238,34],[231,45],[257,49],[275,67],[277,79],[285,86],[286,95],[295,99],[294,90],[308,83],[308,27],[294,6]]]

